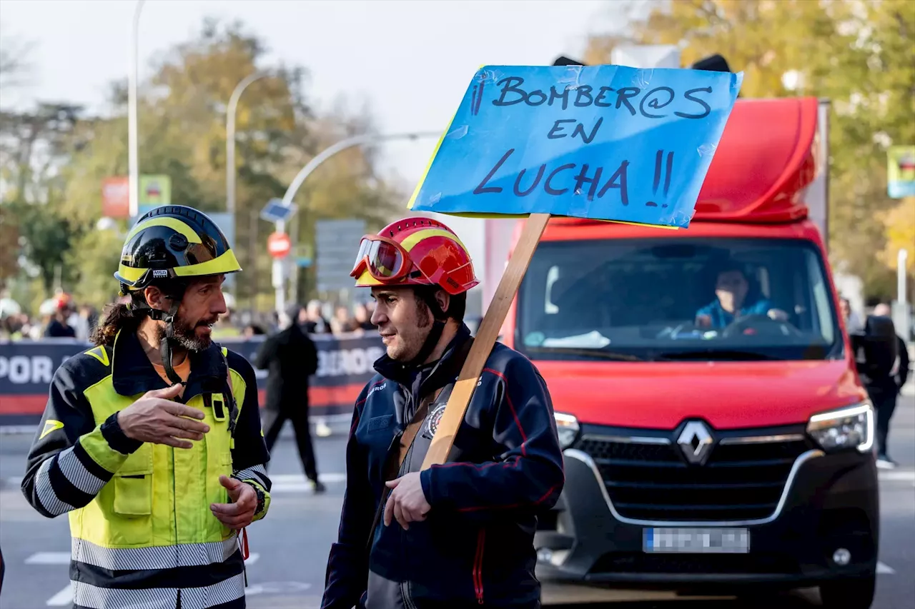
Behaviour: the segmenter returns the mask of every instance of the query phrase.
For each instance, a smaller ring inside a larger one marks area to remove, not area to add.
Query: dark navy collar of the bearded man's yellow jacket
[[[201,393],[221,391],[228,370],[220,346],[211,343],[203,351],[190,352],[188,357],[190,376],[180,401],[188,402]],[[114,390],[124,396],[168,387],[146,357],[135,332],[118,332],[114,337],[112,383]]]

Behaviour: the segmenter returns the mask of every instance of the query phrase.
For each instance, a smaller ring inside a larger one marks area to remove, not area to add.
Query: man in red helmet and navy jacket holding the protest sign
[[[536,513],[565,481],[544,379],[497,343],[447,463],[421,471],[473,341],[473,264],[447,226],[409,218],[364,236],[351,275],[387,353],[353,412],[321,606],[539,607]]]

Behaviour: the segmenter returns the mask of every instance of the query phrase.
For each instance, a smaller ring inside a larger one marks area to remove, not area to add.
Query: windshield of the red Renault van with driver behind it
[[[532,359],[837,358],[831,294],[804,240],[541,241],[515,345]]]

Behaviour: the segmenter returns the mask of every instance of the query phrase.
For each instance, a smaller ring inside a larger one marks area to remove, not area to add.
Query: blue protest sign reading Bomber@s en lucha
[[[743,73],[485,66],[408,205],[689,226]]]

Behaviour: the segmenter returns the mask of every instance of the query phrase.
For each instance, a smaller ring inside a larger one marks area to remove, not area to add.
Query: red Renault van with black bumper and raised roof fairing
[[[544,585],[870,606],[874,411],[805,203],[818,105],[738,100],[686,230],[545,230],[502,332],[543,373],[565,450]]]

